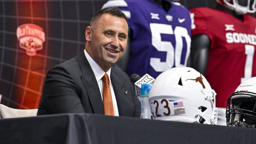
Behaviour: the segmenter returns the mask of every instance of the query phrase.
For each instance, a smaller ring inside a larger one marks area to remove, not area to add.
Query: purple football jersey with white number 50
[[[167,69],[186,66],[191,42],[190,14],[179,3],[170,4],[168,12],[151,0],[111,0],[103,6],[118,6],[133,31],[129,76],[147,73],[156,78]]]

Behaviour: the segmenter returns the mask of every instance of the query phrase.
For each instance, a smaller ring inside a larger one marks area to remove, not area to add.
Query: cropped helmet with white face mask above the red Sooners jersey
[[[216,2],[236,11],[239,15],[256,11],[256,0],[216,0]]]

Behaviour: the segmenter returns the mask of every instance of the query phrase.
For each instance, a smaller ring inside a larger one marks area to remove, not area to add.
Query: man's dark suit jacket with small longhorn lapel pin
[[[119,115],[140,117],[140,102],[128,75],[112,67],[110,79]],[[98,83],[84,52],[54,66],[46,75],[37,115],[60,113],[104,114]]]

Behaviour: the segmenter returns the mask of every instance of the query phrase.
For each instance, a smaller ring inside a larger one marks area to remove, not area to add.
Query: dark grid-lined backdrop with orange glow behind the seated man
[[[18,109],[38,108],[47,71],[84,49],[84,31],[106,0],[0,1],[1,103]],[[215,0],[180,0],[188,9]],[[35,24],[44,29],[43,49],[29,56],[19,47],[17,27]],[[53,88],[54,89],[54,88]]]

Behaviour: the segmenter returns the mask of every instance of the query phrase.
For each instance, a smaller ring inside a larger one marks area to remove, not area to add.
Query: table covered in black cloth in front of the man
[[[256,129],[85,113],[0,119],[0,144],[13,143],[255,144]]]

